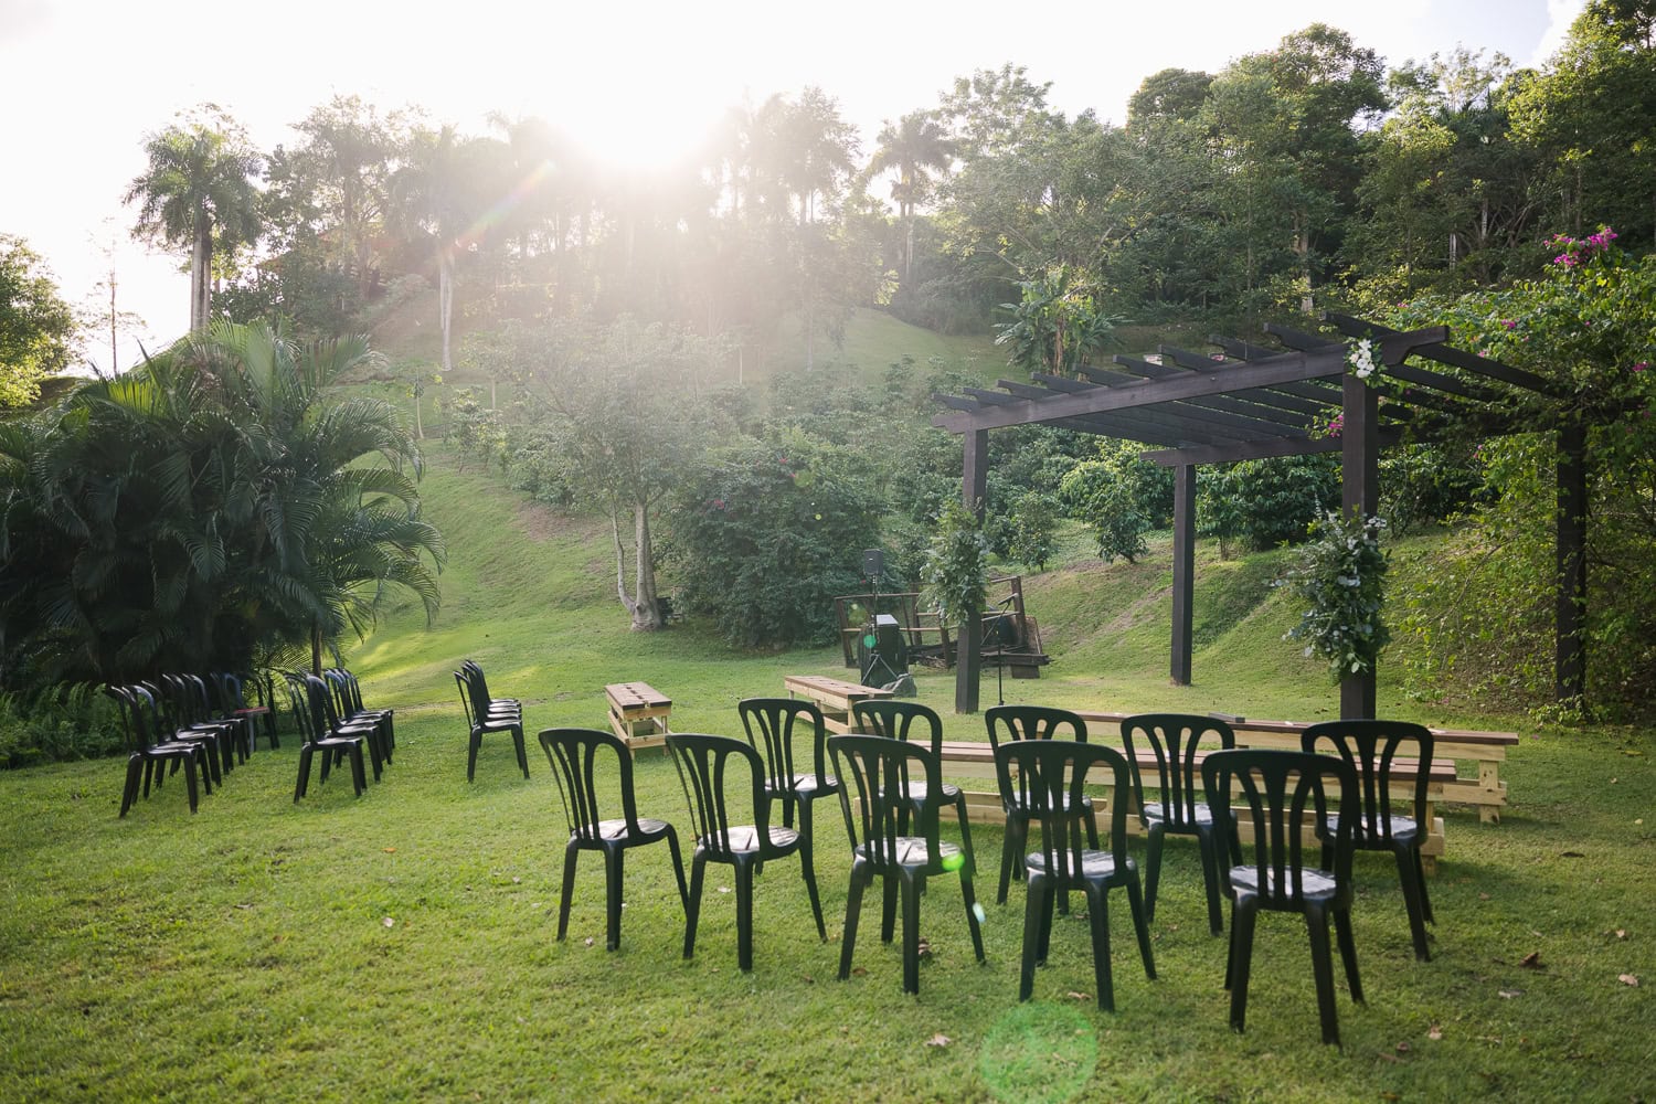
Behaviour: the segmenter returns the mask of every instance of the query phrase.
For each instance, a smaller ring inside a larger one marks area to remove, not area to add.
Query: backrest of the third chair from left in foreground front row
[[[899,841],[919,838],[926,841],[927,874],[942,872],[937,847],[941,765],[931,748],[889,737],[846,733],[828,737],[828,751],[840,776],[840,808],[851,847],[861,846],[868,862],[876,871],[886,871],[909,859],[907,847]],[[911,799],[911,778],[926,783],[924,803]],[[914,821],[907,821],[911,814]],[[899,833],[903,823],[911,824],[907,833]]]

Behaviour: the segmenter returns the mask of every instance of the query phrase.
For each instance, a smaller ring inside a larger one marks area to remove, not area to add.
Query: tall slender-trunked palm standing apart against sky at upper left
[[[230,116],[205,104],[195,119],[169,126],[144,142],[149,167],[128,185],[139,204],[134,237],[190,252],[190,331],[212,310],[212,258],[258,238],[262,159]]]

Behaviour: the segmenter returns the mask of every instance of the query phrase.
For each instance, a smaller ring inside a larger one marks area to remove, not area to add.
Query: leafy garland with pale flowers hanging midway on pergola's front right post
[[[1384,604],[1386,553],[1379,548],[1379,518],[1328,513],[1312,523],[1312,540],[1300,548],[1300,561],[1278,579],[1307,602],[1300,624],[1283,634],[1303,641],[1307,655],[1328,660],[1328,672],[1368,674],[1391,641],[1381,621]]]

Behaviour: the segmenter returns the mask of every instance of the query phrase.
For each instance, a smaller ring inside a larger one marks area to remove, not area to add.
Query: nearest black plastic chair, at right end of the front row
[[[1220,889],[1230,899],[1230,950],[1225,955],[1230,1026],[1242,1031],[1247,1020],[1247,980],[1259,910],[1298,912],[1305,915],[1312,942],[1323,1043],[1340,1043],[1328,953],[1330,917],[1340,938],[1346,985],[1356,1003],[1363,1003],[1363,983],[1351,940],[1351,819],[1336,818],[1333,806],[1356,793],[1356,775],[1345,761],[1326,755],[1234,748],[1202,760],[1202,786],[1219,839],[1232,859],[1230,866],[1220,867]],[[1252,829],[1252,861],[1244,861],[1232,793],[1240,794],[1240,816]],[[1323,866],[1305,861],[1307,831],[1323,841]]]

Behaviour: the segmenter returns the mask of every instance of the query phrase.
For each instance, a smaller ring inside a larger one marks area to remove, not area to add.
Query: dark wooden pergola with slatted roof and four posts
[[[1545,399],[1562,399],[1552,381],[1446,344],[1446,326],[1398,331],[1345,314],[1326,314],[1338,336],[1265,326],[1282,343],[1268,349],[1209,338],[1217,353],[1163,346],[1158,358],[1116,356],[1114,367],[1083,366],[1081,379],[1033,374],[1030,382],[999,381],[936,396],[951,412],[932,424],[964,439],[967,508],[982,516],[987,488],[989,430],[1057,425],[1151,445],[1143,455],[1174,470],[1172,662],[1176,684],[1191,682],[1191,629],[1196,576],[1196,467],[1264,457],[1340,450],[1345,510],[1370,516],[1379,500],[1379,450],[1404,440],[1449,434],[1480,437],[1510,432],[1558,434],[1557,692],[1583,687],[1581,614],[1586,598],[1586,465],[1580,410],[1542,415]],[[1376,362],[1403,386],[1381,402],[1379,391],[1348,371],[1350,339],[1376,344]],[[1565,406],[1565,404],[1558,404]],[[1331,410],[1338,437],[1320,434]],[[1557,406],[1553,407],[1558,409]],[[980,619],[960,627],[956,710],[977,712]],[[1374,715],[1374,675],[1340,684],[1340,715]]]

